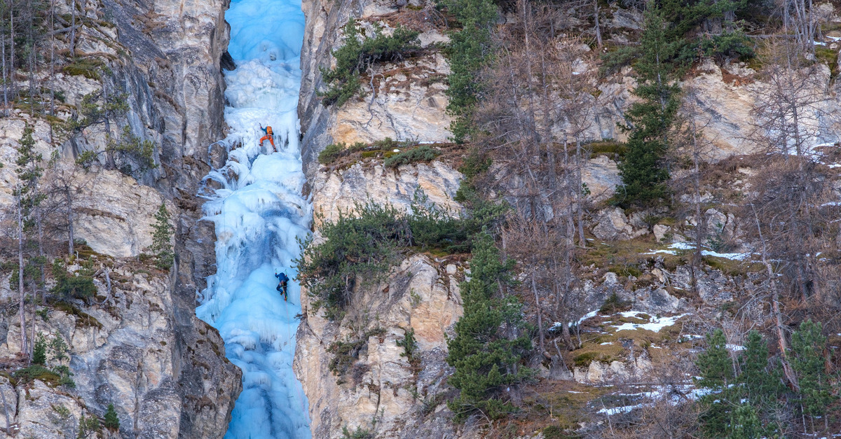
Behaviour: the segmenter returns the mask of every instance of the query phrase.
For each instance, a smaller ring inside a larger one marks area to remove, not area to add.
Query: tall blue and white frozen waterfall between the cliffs
[[[307,401],[292,371],[300,288],[291,281],[284,301],[274,277],[294,278],[296,238],[312,218],[298,143],[304,14],[300,0],[233,0],[225,19],[236,69],[225,74],[230,135],[221,143],[235,149],[206,177],[217,187],[204,204],[216,226],[216,274],[196,315],[220,331],[243,373],[225,438],[308,438]],[[278,152],[258,145],[260,124],[272,126]]]

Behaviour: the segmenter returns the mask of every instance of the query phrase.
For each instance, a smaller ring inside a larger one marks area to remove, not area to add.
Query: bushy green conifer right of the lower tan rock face
[[[504,400],[505,389],[530,375],[520,362],[532,342],[523,331],[521,304],[500,291],[514,283],[514,261],[500,259],[488,233],[476,237],[470,267],[473,278],[461,287],[464,315],[447,343],[447,363],[456,368],[448,383],[461,392],[447,405],[460,420],[476,411],[496,419],[515,410]]]

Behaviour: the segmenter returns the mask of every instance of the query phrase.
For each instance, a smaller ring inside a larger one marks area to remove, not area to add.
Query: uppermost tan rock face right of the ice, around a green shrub
[[[326,88],[319,68],[332,66],[331,51],[344,44],[342,27],[347,21],[352,17],[358,19],[359,25],[370,34],[371,22],[382,20],[383,32],[388,33],[392,28],[383,15],[412,13],[412,10],[400,8],[389,0],[347,4],[313,0],[304,2],[302,8],[306,26],[301,51],[298,114],[303,135],[301,155],[308,178],[313,178],[318,170],[315,160],[318,153],[331,143],[372,142],[386,137],[431,142],[447,140],[450,118],[444,92],[450,70],[446,58],[432,46],[447,41],[440,29],[430,22],[421,25],[419,39],[421,46],[426,48],[424,54],[373,66],[372,71],[362,77],[362,95],[338,108],[336,105],[325,107],[317,95]]]

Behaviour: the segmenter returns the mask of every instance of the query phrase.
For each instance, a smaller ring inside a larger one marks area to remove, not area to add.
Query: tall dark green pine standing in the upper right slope
[[[634,65],[637,88],[633,93],[640,102],[632,104],[621,129],[629,132],[627,153],[619,165],[621,187],[616,198],[623,205],[649,205],[665,198],[669,170],[664,160],[669,151],[669,130],[680,101],[680,87],[674,81],[671,61],[678,48],[669,41],[663,13],[648,8],[641,40],[642,56]]]

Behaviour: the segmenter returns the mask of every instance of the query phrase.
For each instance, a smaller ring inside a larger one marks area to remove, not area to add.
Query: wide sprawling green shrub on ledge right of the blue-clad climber
[[[324,307],[328,318],[341,318],[357,283],[378,282],[407,247],[469,251],[472,236],[500,222],[507,210],[478,198],[468,205],[473,208],[469,214],[453,218],[418,191],[410,215],[368,203],[357,204],[353,216],[340,212],[336,221],[325,222],[320,229],[325,241],[313,245],[310,237],[300,242],[301,257],[295,260],[299,282],[315,299],[312,309]]]

